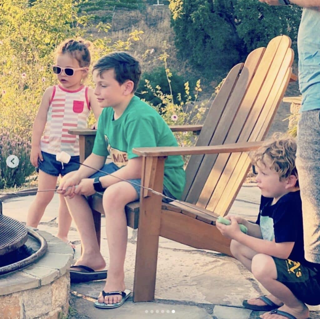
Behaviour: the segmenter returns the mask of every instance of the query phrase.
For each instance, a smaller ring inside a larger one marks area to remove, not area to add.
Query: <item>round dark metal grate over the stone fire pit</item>
[[[20,221],[2,215],[1,201],[0,206],[0,255],[4,255],[24,245],[28,230]]]

